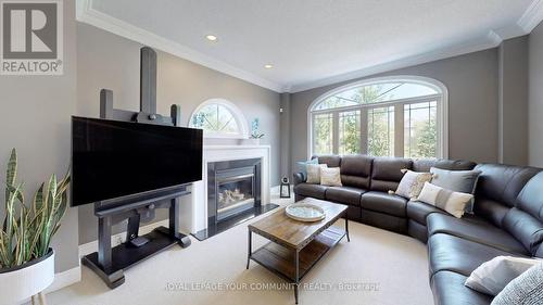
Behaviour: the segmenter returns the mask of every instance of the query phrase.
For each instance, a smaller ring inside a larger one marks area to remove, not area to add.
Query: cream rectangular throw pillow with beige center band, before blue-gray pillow
[[[453,192],[432,183],[425,182],[425,187],[418,196],[418,201],[434,205],[456,218],[462,218],[466,205],[473,199],[472,194]]]

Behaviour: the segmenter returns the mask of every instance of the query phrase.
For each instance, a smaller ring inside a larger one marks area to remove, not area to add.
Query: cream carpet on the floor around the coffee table
[[[81,281],[49,294],[48,303],[294,304],[293,291],[281,287],[285,281],[276,275],[254,262],[245,270],[250,223],[203,242],[192,239],[188,249],[176,246],[161,253],[126,270],[125,283],[114,290],[81,267]],[[336,225],[343,227],[343,220]],[[433,304],[425,244],[354,221],[350,223],[350,230],[351,242],[343,239],[303,279],[300,304]],[[253,234],[253,250],[265,242]],[[349,287],[351,283],[356,285]]]

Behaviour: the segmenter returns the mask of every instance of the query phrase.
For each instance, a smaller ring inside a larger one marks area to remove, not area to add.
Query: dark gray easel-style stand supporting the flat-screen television
[[[140,49],[140,111],[113,107],[113,91],[100,90],[100,118],[164,126],[180,126],[180,107],[173,104],[171,116],[156,113],[156,52]],[[142,161],[144,163],[144,161]],[[109,288],[125,282],[124,269],[175,244],[190,245],[190,239],[179,233],[179,199],[190,194],[188,185],[167,190],[135,194],[94,204],[98,217],[98,252],[86,255],[81,263],[92,269]],[[168,208],[168,228],[160,227],[139,236],[140,221],[153,219],[156,208]],[[112,226],[128,219],[126,242],[111,246]]]

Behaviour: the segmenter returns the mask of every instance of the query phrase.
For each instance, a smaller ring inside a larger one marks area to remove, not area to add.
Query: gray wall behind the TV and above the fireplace
[[[113,90],[114,106],[139,110],[139,49],[142,46],[96,27],[77,24],[77,114],[99,116],[99,91]],[[272,186],[279,183],[280,94],[200,66],[177,56],[157,54],[157,112],[169,113],[171,104],[181,105],[181,118],[188,124],[192,111],[212,98],[237,104],[251,122],[261,119],[266,134],[263,144],[272,145]],[[165,211],[157,220],[164,219]],[[92,206],[79,207],[79,243],[97,239]],[[117,226],[115,232],[123,230]]]

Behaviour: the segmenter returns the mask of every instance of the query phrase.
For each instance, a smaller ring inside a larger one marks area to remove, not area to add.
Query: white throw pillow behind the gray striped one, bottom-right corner
[[[485,294],[497,295],[512,280],[541,263],[543,260],[536,258],[497,256],[477,267],[465,285]]]

